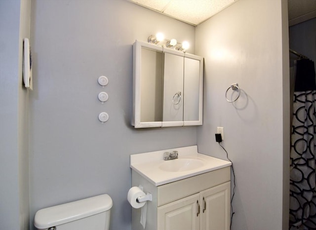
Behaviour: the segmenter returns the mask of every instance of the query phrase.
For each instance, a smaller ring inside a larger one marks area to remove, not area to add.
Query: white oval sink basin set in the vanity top
[[[166,160],[159,165],[159,169],[168,172],[181,172],[197,169],[203,166],[204,163],[200,159],[179,158],[174,160]]]

